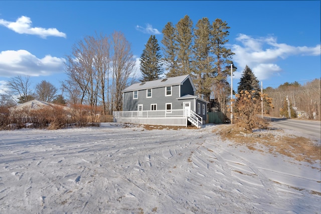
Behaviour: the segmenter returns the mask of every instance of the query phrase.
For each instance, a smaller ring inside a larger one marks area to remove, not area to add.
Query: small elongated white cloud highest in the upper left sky
[[[16,22],[9,22],[9,21],[0,19],[0,25],[3,25],[19,34],[38,35],[44,39],[47,38],[48,36],[66,38],[66,34],[59,32],[56,28],[49,28],[49,29],[39,28],[39,27],[32,28],[31,24],[32,24],[31,19],[25,16],[18,18]]]

